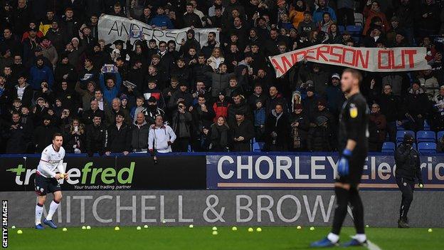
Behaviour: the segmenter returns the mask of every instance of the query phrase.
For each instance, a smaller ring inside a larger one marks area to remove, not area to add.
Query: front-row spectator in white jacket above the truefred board
[[[162,115],[157,115],[156,123],[149,127],[148,149],[152,155],[156,152],[171,152],[171,145],[176,140],[176,134],[169,127],[164,125]]]

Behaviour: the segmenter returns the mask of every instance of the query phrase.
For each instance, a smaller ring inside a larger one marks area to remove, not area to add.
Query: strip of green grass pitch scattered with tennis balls
[[[231,227],[218,226],[217,235],[213,235],[212,226],[149,226],[147,229],[142,226],[141,230],[132,226],[120,227],[119,231],[114,227],[93,227],[90,230],[68,227],[68,231],[62,228],[21,229],[22,234],[17,234],[18,229],[9,229],[8,249],[297,250],[310,249],[310,242],[321,239],[329,231],[329,228],[311,231],[309,227],[297,229],[296,226],[263,226],[260,232],[256,227],[253,229],[248,232],[248,227],[238,226],[237,231],[232,231]],[[342,241],[348,241],[353,234],[354,229],[343,229]],[[370,227],[366,234],[383,250],[444,249],[444,229],[433,229],[429,233],[428,229]]]

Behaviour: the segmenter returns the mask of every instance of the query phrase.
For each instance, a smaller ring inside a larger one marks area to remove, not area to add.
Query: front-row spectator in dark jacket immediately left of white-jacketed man
[[[136,121],[132,126],[132,152],[148,152],[149,126],[143,113],[137,113]]]

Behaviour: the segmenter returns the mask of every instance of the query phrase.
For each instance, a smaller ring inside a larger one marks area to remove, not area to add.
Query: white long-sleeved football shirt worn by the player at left
[[[56,177],[56,171],[63,173],[63,158],[65,157],[65,149],[60,147],[58,152],[54,150],[53,145],[45,147],[38,163],[37,172],[43,177]]]

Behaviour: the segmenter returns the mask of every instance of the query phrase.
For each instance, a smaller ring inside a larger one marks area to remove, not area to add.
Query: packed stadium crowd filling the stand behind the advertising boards
[[[275,78],[268,56],[319,43],[427,48],[429,71],[363,72],[370,150],[396,130],[444,130],[444,9],[393,0],[1,0],[0,152],[332,151],[343,68],[300,62]],[[109,14],[183,41],[106,44]],[[217,28],[205,45],[194,28]],[[177,43],[176,43],[177,42]],[[113,66],[110,66],[110,65]],[[128,81],[133,85],[125,84]],[[442,141],[442,140],[438,140]],[[154,147],[153,147],[154,145]]]

